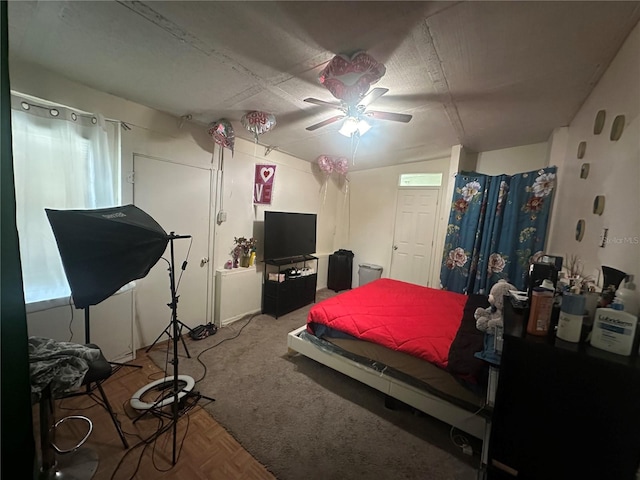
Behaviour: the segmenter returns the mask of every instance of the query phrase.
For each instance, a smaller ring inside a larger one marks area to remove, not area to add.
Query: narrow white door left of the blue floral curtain
[[[439,189],[398,190],[391,278],[429,286]]]

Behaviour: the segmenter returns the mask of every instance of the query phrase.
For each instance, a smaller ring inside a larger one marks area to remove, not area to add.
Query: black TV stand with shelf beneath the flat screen
[[[263,314],[278,318],[316,301],[317,257],[300,255],[267,259],[264,264]],[[292,275],[292,269],[299,270],[300,274]]]

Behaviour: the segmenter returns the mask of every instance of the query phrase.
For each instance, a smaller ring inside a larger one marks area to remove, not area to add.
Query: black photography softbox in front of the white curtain
[[[135,205],[45,212],[76,308],[97,305],[145,277],[169,242],[167,232]]]

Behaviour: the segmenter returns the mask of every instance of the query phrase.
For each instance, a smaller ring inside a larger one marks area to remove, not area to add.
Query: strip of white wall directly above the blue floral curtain
[[[547,142],[479,152],[476,171],[486,175],[514,175],[549,165]]]

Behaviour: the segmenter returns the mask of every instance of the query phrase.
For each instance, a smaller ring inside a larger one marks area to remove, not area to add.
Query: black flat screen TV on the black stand
[[[299,257],[316,251],[316,214],[264,212],[264,259]]]

